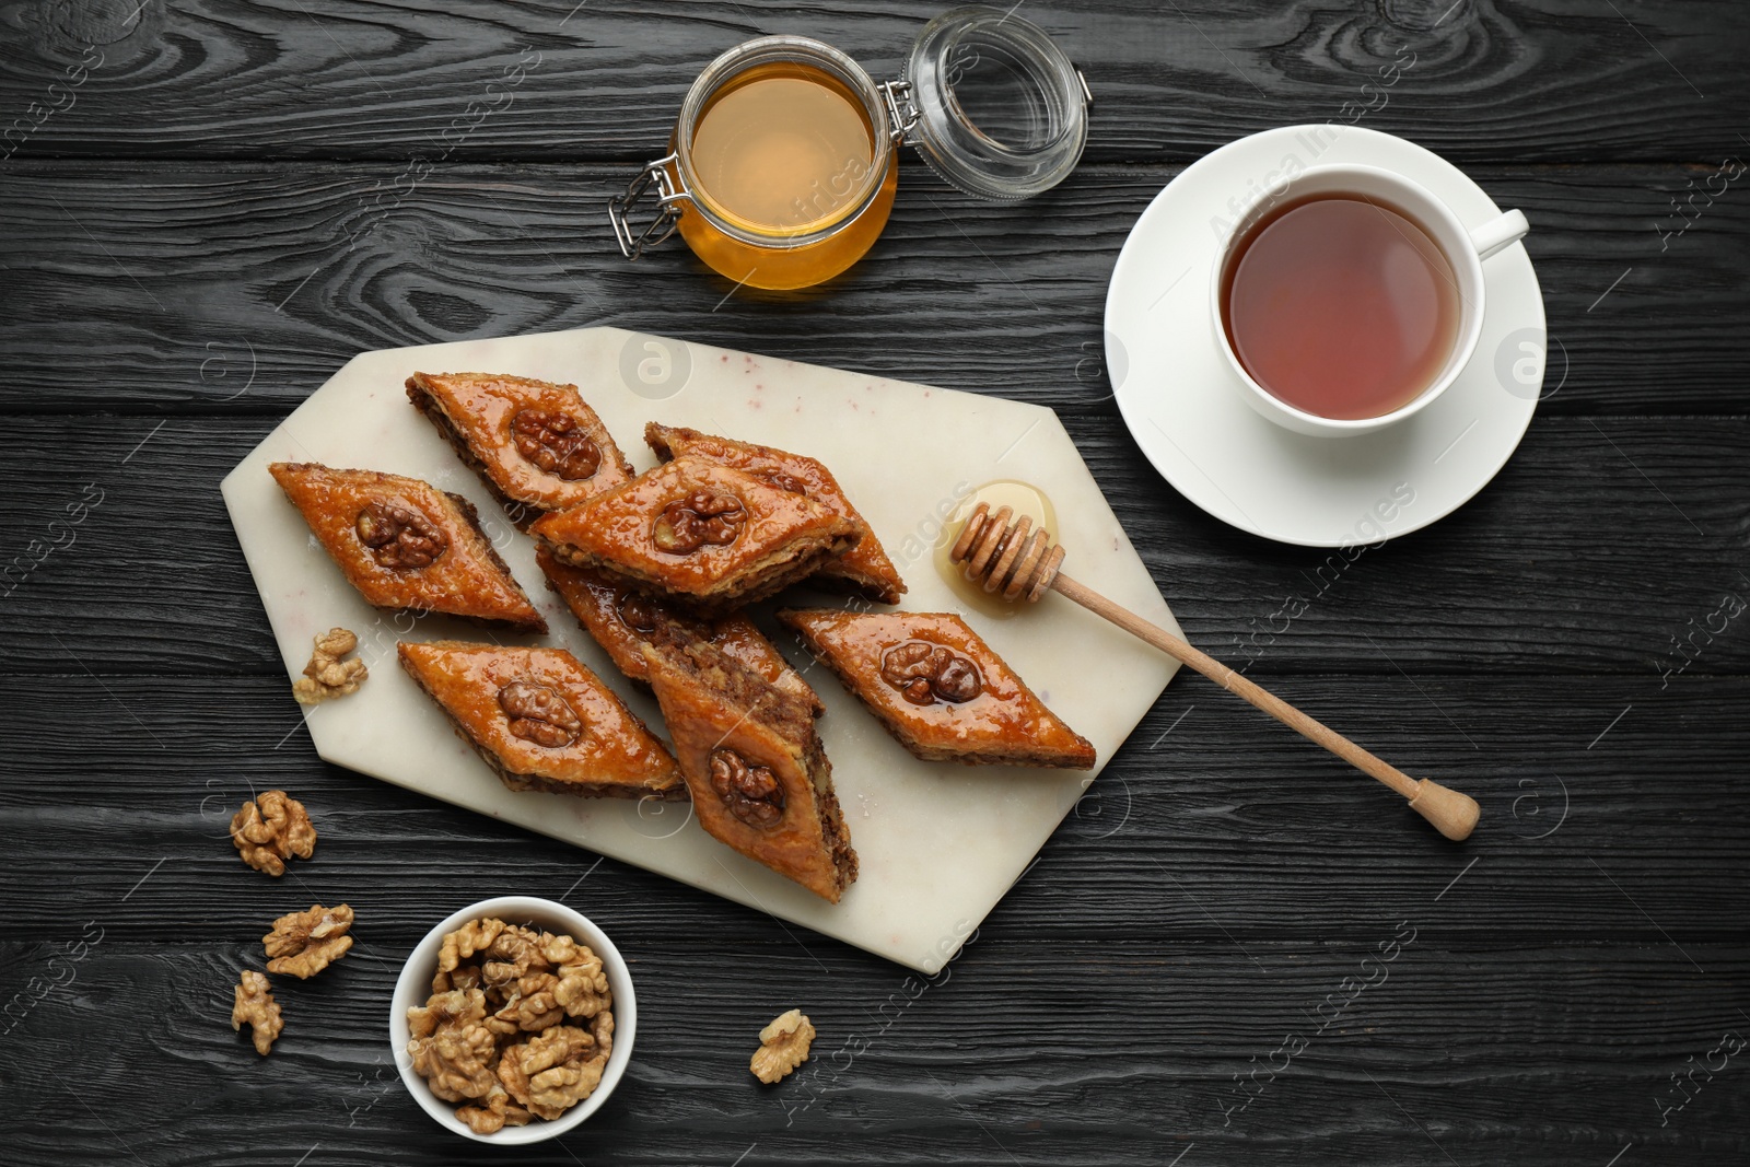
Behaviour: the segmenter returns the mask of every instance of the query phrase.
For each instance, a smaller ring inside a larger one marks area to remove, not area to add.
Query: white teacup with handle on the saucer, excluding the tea
[[[1234,353],[1234,345],[1228,341],[1227,327],[1223,327],[1222,287],[1228,264],[1234,262],[1236,243],[1246,238],[1251,226],[1279,206],[1283,199],[1292,198],[1298,201],[1318,194],[1349,194],[1353,198],[1377,201],[1391,210],[1396,210],[1421,226],[1423,231],[1426,231],[1435,241],[1435,247],[1446,254],[1447,262],[1452,264],[1452,275],[1458,280],[1460,301],[1460,318],[1452,348],[1433,381],[1430,381],[1430,385],[1416,399],[1393,409],[1391,413],[1353,420],[1326,418],[1288,404],[1258,385],[1258,381],[1246,373],[1246,367],[1239,362],[1239,355]],[[1477,350],[1477,338],[1482,336],[1482,261],[1502,248],[1517,243],[1519,238],[1530,229],[1531,224],[1526,222],[1526,217],[1517,210],[1510,210],[1482,224],[1475,231],[1468,231],[1465,229],[1465,224],[1458,220],[1458,215],[1452,213],[1452,208],[1435,198],[1426,187],[1390,170],[1340,163],[1309,166],[1286,187],[1286,191],[1276,198],[1260,199],[1250,206],[1228,233],[1220,261],[1214,264],[1209,278],[1209,313],[1214,324],[1216,343],[1220,343],[1222,352],[1227,353],[1227,362],[1232,366],[1234,376],[1239,378],[1246,401],[1253,409],[1278,425],[1292,429],[1297,434],[1311,434],[1314,437],[1370,434],[1426,409],[1428,404],[1444,394],[1452,381],[1458,380],[1458,374],[1465,371],[1465,366],[1470,364],[1472,353]]]

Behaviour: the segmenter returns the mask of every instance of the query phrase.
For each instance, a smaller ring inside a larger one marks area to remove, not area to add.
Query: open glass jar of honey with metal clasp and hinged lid
[[[705,66],[668,154],[609,201],[609,217],[626,259],[679,231],[737,285],[808,287],[880,236],[900,145],[968,194],[1024,199],[1074,170],[1088,105],[1064,51],[996,9],[938,16],[886,84],[819,40],[761,37]],[[637,226],[646,199],[654,215]]]

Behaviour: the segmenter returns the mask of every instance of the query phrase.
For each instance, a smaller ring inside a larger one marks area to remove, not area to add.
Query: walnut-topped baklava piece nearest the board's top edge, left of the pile
[[[495,373],[415,373],[408,401],[486,483],[518,528],[632,478],[576,385]]]

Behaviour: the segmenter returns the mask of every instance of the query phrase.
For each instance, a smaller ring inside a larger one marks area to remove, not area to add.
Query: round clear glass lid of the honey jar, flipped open
[[[1088,91],[1043,28],[989,7],[943,12],[912,45],[906,140],[966,194],[1024,199],[1069,177],[1088,136]]]

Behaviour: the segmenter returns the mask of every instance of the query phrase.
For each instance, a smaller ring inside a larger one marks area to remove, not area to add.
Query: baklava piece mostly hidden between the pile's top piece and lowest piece
[[[772,647],[754,621],[746,616],[723,619],[693,619],[662,600],[628,591],[598,572],[584,567],[567,567],[546,548],[536,549],[536,563],[548,577],[548,586],[565,600],[578,623],[583,625],[602,651],[626,674],[634,686],[651,688],[651,674],[644,665],[644,646],[663,635],[679,640],[709,640],[724,656],[747,665],[779,689],[791,693],[819,717],[826,712],[821,698],[802,679],[784,654]]]

